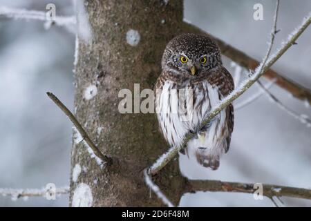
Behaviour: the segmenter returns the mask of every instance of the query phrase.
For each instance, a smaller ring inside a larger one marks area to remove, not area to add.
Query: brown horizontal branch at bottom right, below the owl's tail
[[[311,189],[303,189],[289,186],[279,186],[271,184],[263,185],[263,195],[272,197],[291,197],[311,200]],[[252,183],[222,182],[219,180],[189,180],[184,193],[196,191],[209,192],[235,192],[235,193],[255,193],[257,189]]]

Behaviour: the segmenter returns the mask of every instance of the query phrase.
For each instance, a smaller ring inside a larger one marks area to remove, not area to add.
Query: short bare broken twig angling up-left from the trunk
[[[106,155],[102,154],[99,148],[92,142],[91,138],[88,137],[88,134],[86,131],[84,131],[84,128],[81,126],[81,124],[77,121],[73,113],[69,111],[69,109],[55,96],[53,93],[47,92],[46,93],[50,99],[53,100],[53,102],[64,112],[65,115],[70,119],[70,121],[73,123],[75,128],[77,128],[77,131],[79,131],[80,135],[82,136],[83,140],[88,144],[88,146],[91,147],[94,154],[99,157],[101,160],[103,160],[106,163],[111,162],[111,158],[107,157]]]

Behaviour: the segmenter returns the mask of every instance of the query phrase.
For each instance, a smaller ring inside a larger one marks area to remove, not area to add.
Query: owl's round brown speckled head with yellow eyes
[[[182,34],[167,44],[162,69],[195,77],[222,66],[220,50],[208,35]]]

